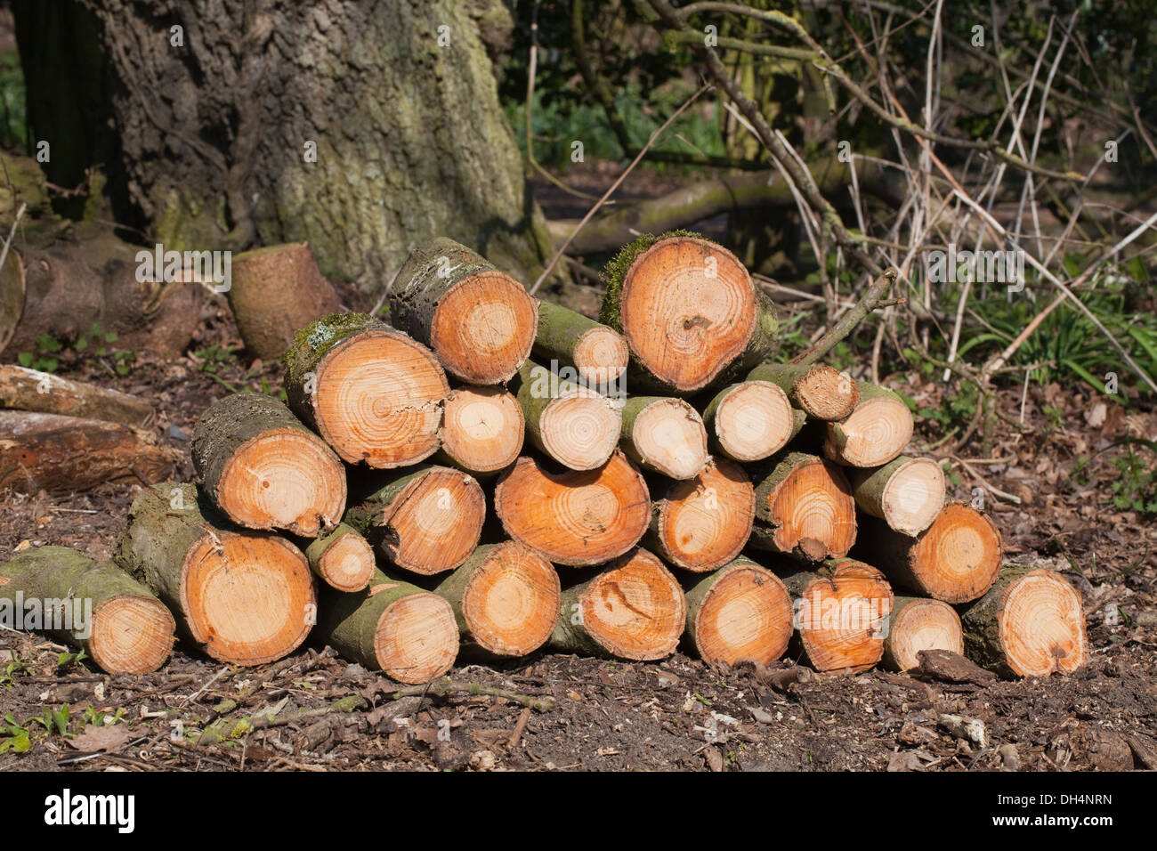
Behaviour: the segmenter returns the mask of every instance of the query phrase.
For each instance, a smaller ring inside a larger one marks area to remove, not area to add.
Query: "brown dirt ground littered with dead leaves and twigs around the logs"
[[[200,411],[231,389],[280,380],[277,365],[241,353],[220,296],[202,320],[180,360],[140,352],[127,375],[61,354],[66,376],[155,401],[157,439],[185,450],[182,480],[193,478],[187,439]],[[206,357],[214,345],[218,357]],[[916,373],[886,383],[921,406],[942,393]],[[1019,391],[1002,402],[1019,412]],[[1118,474],[1106,452],[1120,436],[1157,439],[1157,415],[1099,404],[1086,389],[1034,389],[1025,433],[1002,424],[995,458],[948,453],[929,420],[914,439],[951,464],[957,498],[985,489],[1010,560],[1057,570],[1082,593],[1091,659],[1068,678],[952,683],[874,670],[783,685],[683,653],[654,663],[536,653],[456,667],[449,676],[462,688],[447,695],[399,696],[396,683],[316,645],[244,669],[178,646],[155,674],[108,676],[43,636],[0,630],[0,770],[1157,769],[1157,528],[1112,507]],[[1082,455],[1093,460],[1073,475]],[[138,490],[8,494],[0,553],[62,544],[109,557]],[[553,706],[541,705],[547,697]],[[946,713],[979,719],[986,736],[950,733]],[[251,729],[230,735],[242,719]]]

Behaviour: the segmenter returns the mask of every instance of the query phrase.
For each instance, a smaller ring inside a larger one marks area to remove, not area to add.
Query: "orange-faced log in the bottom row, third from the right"
[[[816,670],[868,670],[884,654],[892,588],[875,567],[830,559],[781,573],[796,612],[799,651]]]

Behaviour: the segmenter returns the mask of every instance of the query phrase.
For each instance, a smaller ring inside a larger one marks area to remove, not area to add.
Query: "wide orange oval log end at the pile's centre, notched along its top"
[[[555,564],[594,565],[627,552],[650,521],[650,493],[621,452],[597,470],[551,472],[518,458],[494,490],[502,528]]]

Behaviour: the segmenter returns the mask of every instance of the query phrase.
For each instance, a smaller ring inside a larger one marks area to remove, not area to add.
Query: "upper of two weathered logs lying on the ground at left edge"
[[[133,428],[146,428],[154,419],[148,399],[14,365],[0,366],[0,408],[100,419]]]

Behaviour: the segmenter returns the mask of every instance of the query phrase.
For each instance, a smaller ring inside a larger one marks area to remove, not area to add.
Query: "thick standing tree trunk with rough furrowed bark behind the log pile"
[[[509,30],[499,3],[84,5],[128,200],[165,248],[309,240],[367,292],[435,234],[540,269],[550,235],[479,35]]]

